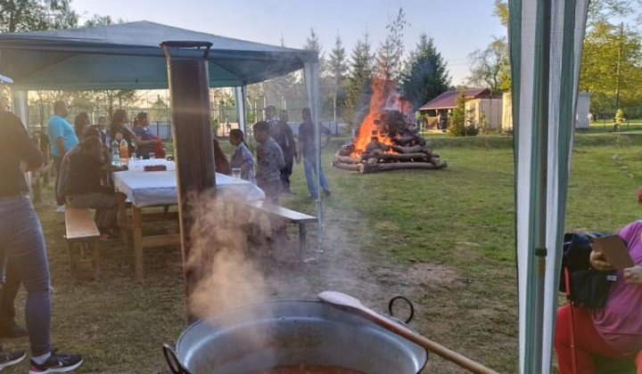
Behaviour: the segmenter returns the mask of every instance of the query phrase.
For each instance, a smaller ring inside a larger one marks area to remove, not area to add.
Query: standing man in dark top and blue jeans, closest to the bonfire
[[[303,123],[299,126],[300,155],[303,156],[303,167],[305,168],[310,197],[312,199],[316,199],[317,180],[314,178],[314,175],[317,174],[317,151],[320,150],[317,150],[317,145],[315,144],[314,125],[312,124],[312,113],[310,112],[310,109],[303,108],[303,110],[301,110],[301,116],[303,117]],[[328,136],[331,134],[330,129],[323,125],[321,125],[320,130],[323,134]],[[327,183],[327,179],[325,179],[323,167],[319,165],[318,170],[321,189],[323,189],[326,197],[330,197],[332,192],[330,191],[330,185]]]

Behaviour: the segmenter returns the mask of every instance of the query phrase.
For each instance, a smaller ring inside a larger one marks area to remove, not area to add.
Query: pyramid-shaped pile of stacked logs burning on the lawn
[[[365,150],[358,154],[354,144],[347,144],[337,152],[332,166],[361,174],[448,166],[446,161],[440,160],[439,154],[433,152],[432,145],[421,134],[409,129],[399,111],[386,111],[375,124],[379,130],[373,132]]]

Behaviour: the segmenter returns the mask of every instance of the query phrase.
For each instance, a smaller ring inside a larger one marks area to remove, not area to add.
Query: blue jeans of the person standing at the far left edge
[[[51,283],[45,237],[28,197],[0,200],[0,251],[27,290],[25,320],[31,354],[51,351]]]

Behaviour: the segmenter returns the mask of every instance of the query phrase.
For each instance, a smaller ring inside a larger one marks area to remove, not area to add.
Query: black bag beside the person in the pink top
[[[589,310],[605,307],[608,300],[615,271],[598,272],[590,265],[591,246],[589,236],[600,237],[610,233],[591,232],[567,233],[564,235],[564,252],[562,255],[562,275],[559,291],[566,292],[564,268],[570,274],[570,295],[573,306],[583,306]]]

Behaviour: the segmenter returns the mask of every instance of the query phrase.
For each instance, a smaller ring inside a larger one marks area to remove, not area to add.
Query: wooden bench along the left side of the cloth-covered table
[[[65,227],[67,229],[67,252],[70,258],[71,280],[76,281],[78,268],[86,268],[94,271],[94,278],[100,278],[100,232],[95,225],[94,219],[86,207],[65,208]],[[74,253],[79,249],[79,258]],[[89,248],[93,256],[87,256]]]

